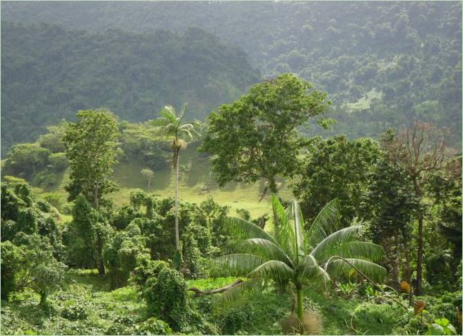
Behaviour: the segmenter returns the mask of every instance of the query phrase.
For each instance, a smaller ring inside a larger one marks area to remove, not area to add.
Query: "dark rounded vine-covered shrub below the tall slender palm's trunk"
[[[144,298],[151,315],[168,322],[173,330],[184,326],[186,317],[186,282],[175,269],[162,269],[157,279],[150,279]]]

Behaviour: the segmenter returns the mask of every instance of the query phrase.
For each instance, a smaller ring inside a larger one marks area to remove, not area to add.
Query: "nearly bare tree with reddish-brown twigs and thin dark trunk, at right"
[[[418,251],[416,295],[422,293],[423,269],[423,222],[426,210],[424,187],[431,174],[440,171],[446,157],[446,136],[442,130],[431,124],[415,120],[411,127],[400,132],[391,129],[382,138],[382,145],[392,164],[403,169],[413,182],[413,191],[420,200],[421,209],[417,211]]]

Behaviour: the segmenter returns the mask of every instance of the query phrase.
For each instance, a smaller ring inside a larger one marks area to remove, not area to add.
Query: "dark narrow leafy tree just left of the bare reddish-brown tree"
[[[419,207],[413,182],[407,174],[391,164],[385,155],[364,177],[368,188],[364,192],[360,216],[367,220],[370,236],[385,249],[383,265],[395,283],[411,283],[412,221]],[[405,260],[405,262],[403,262]]]

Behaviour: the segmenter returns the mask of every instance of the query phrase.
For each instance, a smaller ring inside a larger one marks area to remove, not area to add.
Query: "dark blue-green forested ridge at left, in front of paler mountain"
[[[1,30],[3,154],[79,109],[140,121],[188,102],[188,116],[204,118],[260,78],[242,51],[198,28],[92,34],[7,21]]]

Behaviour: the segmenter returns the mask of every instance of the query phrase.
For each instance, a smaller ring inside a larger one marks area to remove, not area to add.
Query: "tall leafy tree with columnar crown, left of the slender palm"
[[[108,177],[117,162],[117,120],[108,110],[79,111],[77,118],[63,138],[71,180],[65,189],[68,200],[75,200],[82,193],[98,209],[104,193],[115,189]]]

